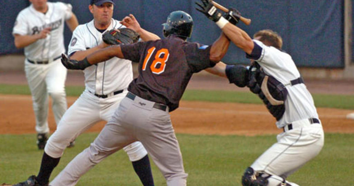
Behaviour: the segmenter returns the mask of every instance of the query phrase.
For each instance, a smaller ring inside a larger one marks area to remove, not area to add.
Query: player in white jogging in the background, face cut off
[[[67,69],[60,62],[64,47],[64,22],[73,31],[78,20],[72,6],[62,2],[29,0],[32,4],[19,12],[13,36],[15,46],[24,47],[25,73],[32,94],[36,118],[37,145],[43,149],[49,134],[48,95],[58,124],[67,109],[65,78]]]

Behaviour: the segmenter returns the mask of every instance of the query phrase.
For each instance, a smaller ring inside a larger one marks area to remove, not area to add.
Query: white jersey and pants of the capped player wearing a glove
[[[110,26],[106,30],[120,27],[124,26],[119,21],[112,19]],[[93,20],[79,25],[73,32],[68,55],[99,45],[103,42],[102,34],[106,30],[96,29]],[[65,112],[57,130],[50,136],[45,146],[45,152],[51,157],[61,157],[71,141],[98,121],[110,120],[121,100],[126,96],[127,87],[133,79],[131,61],[116,57],[87,67],[84,73],[86,86],[84,92]],[[147,151],[141,142],[131,143],[123,149],[127,152],[131,161],[137,161],[147,155]],[[85,169],[85,165],[79,165],[75,168]],[[72,169],[70,165],[65,168],[65,170]],[[65,179],[55,179],[50,185],[71,185],[62,181],[71,180],[73,177],[65,174],[62,176]],[[72,184],[75,185],[76,182]]]

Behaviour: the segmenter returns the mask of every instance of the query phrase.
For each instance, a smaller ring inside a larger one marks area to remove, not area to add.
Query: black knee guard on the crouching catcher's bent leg
[[[270,176],[271,175],[266,173],[259,173],[249,167],[245,170],[241,182],[243,186],[267,186]]]

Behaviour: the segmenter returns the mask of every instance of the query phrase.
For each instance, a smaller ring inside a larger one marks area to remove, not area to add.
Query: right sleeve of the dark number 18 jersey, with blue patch
[[[210,61],[210,48],[211,46],[199,43],[186,43],[183,45],[187,63],[193,73],[215,66],[215,63]]]

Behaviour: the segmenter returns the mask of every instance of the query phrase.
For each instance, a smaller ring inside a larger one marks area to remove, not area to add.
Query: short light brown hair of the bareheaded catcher
[[[257,37],[260,37],[259,41],[262,41],[262,43],[267,46],[274,46],[277,49],[281,49],[283,45],[283,40],[281,39],[281,36],[273,30],[259,30],[253,35],[253,38]]]

